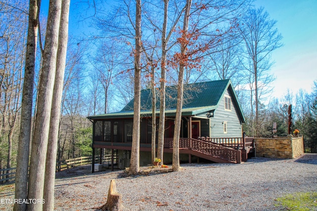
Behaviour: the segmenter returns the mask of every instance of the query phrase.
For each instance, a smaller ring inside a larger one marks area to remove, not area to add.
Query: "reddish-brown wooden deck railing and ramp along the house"
[[[131,150],[132,143],[95,142],[95,148]],[[151,152],[151,144],[140,144],[140,151]],[[172,153],[173,138],[164,139],[164,152]],[[246,162],[250,153],[255,152],[253,137],[180,138],[179,152],[194,155],[216,163]]]

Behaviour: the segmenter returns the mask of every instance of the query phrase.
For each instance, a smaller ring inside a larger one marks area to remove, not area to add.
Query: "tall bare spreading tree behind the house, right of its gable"
[[[259,131],[259,99],[264,95],[265,87],[274,78],[268,73],[272,62],[270,53],[282,46],[282,36],[275,28],[276,21],[269,18],[264,8],[250,9],[240,24],[240,31],[245,42],[248,68],[254,78],[254,100],[256,112],[256,131]],[[253,94],[252,94],[253,95]],[[253,102],[252,102],[253,103]]]

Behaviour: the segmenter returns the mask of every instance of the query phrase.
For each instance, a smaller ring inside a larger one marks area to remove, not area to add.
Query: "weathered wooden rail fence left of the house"
[[[100,157],[95,156],[95,163],[99,161]],[[56,172],[64,169],[71,169],[73,167],[78,167],[86,164],[92,163],[92,156],[88,157],[80,157],[74,158],[64,161],[56,162]],[[103,163],[111,164],[111,155],[105,155],[103,159]],[[114,157],[114,163],[116,163],[116,157]],[[0,184],[4,184],[7,182],[12,182],[15,180],[15,168],[10,169],[0,169]]]

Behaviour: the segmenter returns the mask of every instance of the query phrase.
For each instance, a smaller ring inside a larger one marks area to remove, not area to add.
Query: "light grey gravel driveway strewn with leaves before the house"
[[[178,172],[124,177],[122,170],[57,174],[55,210],[96,210],[116,180],[126,211],[278,211],[276,198],[317,191],[317,154],[252,158],[242,164],[183,164]],[[1,209],[0,209],[1,210]]]

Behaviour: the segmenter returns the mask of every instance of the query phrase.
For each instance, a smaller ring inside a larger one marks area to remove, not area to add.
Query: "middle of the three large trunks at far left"
[[[47,23],[39,101],[30,158],[28,199],[43,199],[46,153],[48,147],[53,86],[56,70],[61,0],[51,0]],[[42,211],[43,204],[28,204],[28,211]]]

